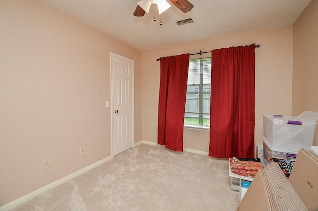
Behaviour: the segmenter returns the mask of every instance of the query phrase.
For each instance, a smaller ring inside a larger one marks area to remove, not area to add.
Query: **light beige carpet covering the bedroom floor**
[[[140,144],[11,211],[235,211],[229,160]]]

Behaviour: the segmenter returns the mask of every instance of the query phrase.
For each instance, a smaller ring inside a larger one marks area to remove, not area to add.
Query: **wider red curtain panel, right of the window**
[[[254,46],[212,50],[209,155],[253,158]]]

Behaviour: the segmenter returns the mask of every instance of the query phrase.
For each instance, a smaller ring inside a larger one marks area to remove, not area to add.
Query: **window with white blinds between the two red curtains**
[[[185,125],[210,126],[211,57],[189,61]]]

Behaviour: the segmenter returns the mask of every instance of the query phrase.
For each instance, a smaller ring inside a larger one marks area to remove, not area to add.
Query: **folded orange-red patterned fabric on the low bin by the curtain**
[[[255,177],[257,171],[263,168],[262,163],[255,161],[242,161],[230,158],[231,172],[239,176]]]

